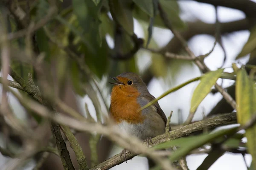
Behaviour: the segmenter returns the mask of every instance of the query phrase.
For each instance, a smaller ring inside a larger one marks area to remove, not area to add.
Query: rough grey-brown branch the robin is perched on
[[[157,144],[160,144],[169,140],[174,140],[180,137],[188,136],[193,133],[202,132],[206,128],[215,128],[218,126],[229,125],[233,123],[236,123],[236,113],[226,113],[220,116],[204,119],[204,120],[192,123],[190,125],[186,125],[178,129],[172,130],[169,132],[169,134],[163,134],[163,135],[154,137],[152,139],[152,142],[154,144],[150,146],[155,146]],[[144,144],[146,145],[146,142],[144,142]],[[126,154],[126,159],[132,159],[134,156],[136,156],[135,153],[128,153]],[[123,158],[120,158],[120,154],[117,154],[107,159],[106,161],[98,164],[97,166],[92,167],[90,170],[98,170],[98,168],[100,170],[108,170],[111,167],[122,164],[124,161],[125,160]]]

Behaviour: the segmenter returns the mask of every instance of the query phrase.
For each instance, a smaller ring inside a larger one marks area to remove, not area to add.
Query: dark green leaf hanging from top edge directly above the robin
[[[134,22],[132,17],[132,0],[110,0],[112,17],[127,31],[134,34]]]

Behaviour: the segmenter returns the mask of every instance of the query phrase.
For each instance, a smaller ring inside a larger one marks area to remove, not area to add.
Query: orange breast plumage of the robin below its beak
[[[145,116],[141,112],[137,112],[140,108],[140,104],[137,103],[137,97],[140,95],[138,91],[133,89],[132,93],[129,93],[128,89],[123,86],[114,86],[111,92],[111,117],[115,122],[120,123],[126,121],[132,124],[142,123]]]

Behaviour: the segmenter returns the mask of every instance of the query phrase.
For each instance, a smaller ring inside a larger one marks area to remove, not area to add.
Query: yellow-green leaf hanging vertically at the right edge
[[[256,89],[254,82],[250,79],[242,67],[237,73],[236,79],[236,113],[237,122],[246,124],[256,113]],[[256,125],[245,130],[247,137],[248,152],[253,157],[253,165],[256,167]]]

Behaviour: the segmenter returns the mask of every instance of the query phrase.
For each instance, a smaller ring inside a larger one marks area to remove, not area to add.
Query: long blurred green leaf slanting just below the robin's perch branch
[[[230,133],[234,133],[236,131],[236,127],[235,128],[230,128],[230,129],[224,129],[224,130],[220,130],[217,131],[215,133],[210,133],[208,135],[201,135],[198,136],[197,139],[195,140],[190,140],[187,142],[187,144],[183,147],[180,147],[178,150],[176,150],[171,156],[170,159],[171,161],[175,161],[183,156],[186,156],[186,154],[188,154],[189,152],[191,152],[193,149],[198,148],[203,146],[204,144],[208,143],[208,142],[212,142],[213,140],[215,140],[216,138],[226,135],[226,134],[230,134]]]

